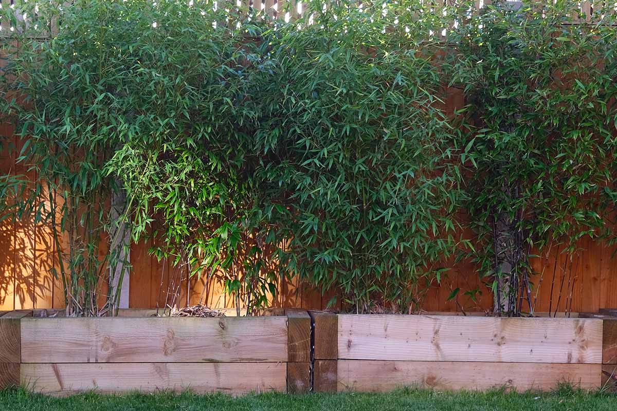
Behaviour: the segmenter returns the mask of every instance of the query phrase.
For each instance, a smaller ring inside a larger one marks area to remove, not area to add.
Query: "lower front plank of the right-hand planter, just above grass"
[[[547,391],[566,382],[597,389],[601,364],[339,360],[338,391],[391,391],[403,386],[439,390],[513,388]]]

